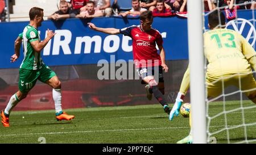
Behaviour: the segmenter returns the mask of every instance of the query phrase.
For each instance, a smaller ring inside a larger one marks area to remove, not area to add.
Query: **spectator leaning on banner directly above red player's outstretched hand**
[[[80,10],[80,14],[76,15],[76,18],[94,18],[103,16],[104,14],[102,10],[95,10],[94,6],[95,5],[93,1],[88,1],[86,3],[86,10]]]

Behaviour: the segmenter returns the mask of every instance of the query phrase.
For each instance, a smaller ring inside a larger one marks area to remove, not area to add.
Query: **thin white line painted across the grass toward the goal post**
[[[54,134],[68,134],[68,133],[88,133],[88,132],[139,131],[139,130],[154,130],[154,129],[180,129],[180,128],[185,129],[185,128],[189,128],[189,127],[141,128],[141,129],[107,129],[107,130],[94,130],[94,131],[23,133],[23,134],[0,135],[0,137],[27,136],[27,135],[54,135]]]

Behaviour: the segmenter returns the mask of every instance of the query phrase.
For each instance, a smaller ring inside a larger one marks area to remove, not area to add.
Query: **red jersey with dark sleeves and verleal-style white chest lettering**
[[[156,44],[163,45],[161,34],[151,28],[144,32],[140,26],[130,26],[119,30],[125,36],[133,39],[133,60],[136,68],[162,65]]]

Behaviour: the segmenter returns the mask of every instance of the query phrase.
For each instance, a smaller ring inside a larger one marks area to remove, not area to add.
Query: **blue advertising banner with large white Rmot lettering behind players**
[[[253,19],[255,13],[251,10],[238,11],[238,17]],[[90,30],[88,22],[97,27],[124,28],[139,25],[139,18],[94,18],[67,19],[53,22],[46,20],[39,27],[40,37],[46,37],[47,29],[56,32],[42,51],[45,64],[53,65],[79,65],[97,64],[99,60],[133,60],[131,38],[127,36],[108,35]],[[205,18],[207,28],[207,18]],[[252,22],[253,23],[253,20]],[[17,68],[23,60],[22,50],[17,62],[11,63],[10,56],[14,54],[14,40],[28,22],[0,23],[0,68]],[[253,23],[254,24],[254,23]],[[166,60],[188,59],[187,19],[172,17],[155,17],[152,27],[163,36],[163,47],[166,51]],[[250,28],[245,27],[246,31]],[[255,28],[254,28],[255,30]],[[253,33],[252,33],[253,34]],[[255,34],[254,34],[255,37]],[[253,39],[253,37],[251,37]]]

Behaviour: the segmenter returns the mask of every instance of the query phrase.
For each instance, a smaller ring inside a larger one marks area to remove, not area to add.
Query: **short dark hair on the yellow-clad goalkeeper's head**
[[[214,28],[219,24],[221,24],[221,26],[224,26],[225,22],[226,22],[225,15],[220,10],[215,10],[208,15],[208,23],[210,25],[210,28]]]

